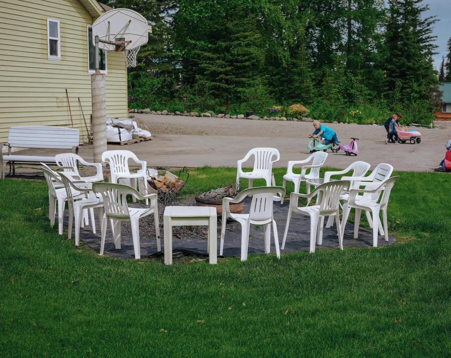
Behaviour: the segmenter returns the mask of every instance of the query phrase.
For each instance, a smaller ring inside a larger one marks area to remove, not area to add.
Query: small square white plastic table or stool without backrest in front
[[[172,226],[208,225],[207,252],[210,264],[217,263],[217,218],[214,207],[166,207],[163,215],[165,264],[172,265]]]

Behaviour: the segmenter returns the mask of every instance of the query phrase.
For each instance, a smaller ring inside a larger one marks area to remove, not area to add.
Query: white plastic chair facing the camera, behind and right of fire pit
[[[254,156],[253,170],[244,172],[241,169],[242,164],[251,156]],[[273,160],[273,157],[276,159]],[[246,156],[237,162],[236,185],[239,187],[239,179],[249,180],[249,188],[252,188],[253,179],[265,179],[266,186],[275,186],[274,175],[272,175],[272,163],[280,159],[280,153],[276,148],[253,148],[248,151]]]

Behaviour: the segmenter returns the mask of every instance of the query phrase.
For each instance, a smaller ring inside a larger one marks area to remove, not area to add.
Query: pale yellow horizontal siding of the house
[[[47,18],[60,20],[61,60],[49,60]],[[91,76],[87,25],[93,18],[79,0],[1,0],[0,142],[14,125],[71,126],[86,135],[78,97],[90,127]],[[107,117],[127,116],[127,68],[122,53],[107,54]]]

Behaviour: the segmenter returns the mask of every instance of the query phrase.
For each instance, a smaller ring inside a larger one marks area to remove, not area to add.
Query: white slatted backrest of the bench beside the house
[[[72,149],[78,147],[80,131],[46,125],[9,128],[8,144],[17,148]]]

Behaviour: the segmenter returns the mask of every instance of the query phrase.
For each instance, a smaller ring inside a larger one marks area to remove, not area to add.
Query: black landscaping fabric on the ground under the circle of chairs
[[[247,198],[244,202],[243,213],[249,212],[249,205],[251,198]],[[276,220],[277,232],[279,234],[279,244],[282,245],[283,234],[285,230],[286,217],[288,214],[289,203],[285,202],[280,205],[280,202],[274,202],[274,219]],[[65,211],[64,228],[67,228],[68,212]],[[97,215],[96,215],[97,216]],[[362,215],[364,217],[364,215]],[[150,216],[153,220],[153,215]],[[143,219],[141,219],[143,220]],[[327,218],[325,220],[326,225]],[[55,220],[55,224],[57,219]],[[228,222],[227,226],[229,230],[226,230],[226,236],[224,240],[224,256],[240,256],[241,253],[241,227],[236,225],[236,222]],[[124,223],[122,223],[124,225]],[[100,252],[100,225],[96,218],[97,234],[92,234],[91,225],[80,228],[80,240],[87,243],[94,251]],[[219,229],[219,224],[218,224]],[[126,234],[127,230],[121,230],[121,248],[116,249],[113,243],[110,223],[107,224],[106,241],[104,254],[111,257],[118,258],[134,258],[133,240],[131,234]],[[219,233],[219,231],[218,231]],[[74,235],[74,234],[73,234]],[[163,232],[161,232],[161,249],[164,251]],[[373,246],[373,232],[368,229],[360,228],[359,239],[354,239],[354,224],[348,223],[345,227],[345,235],[343,238],[344,247],[371,247]],[[74,239],[74,237],[73,237]],[[220,247],[220,235],[218,234],[217,249],[219,255]],[[394,243],[396,239],[389,235],[388,242],[384,240],[382,236],[378,236],[377,245],[385,246]],[[291,216],[290,227],[285,243],[285,249],[281,252],[296,252],[299,250],[308,250],[310,247],[310,217],[302,214],[293,213]],[[336,234],[335,223],[331,228],[324,227],[322,245],[316,245],[316,250],[323,248],[338,248],[338,236]],[[157,252],[156,238],[140,230],[140,248],[141,258],[152,257],[161,255],[161,252]],[[185,254],[200,254],[207,255],[207,239],[198,237],[187,237],[184,239],[178,239],[173,237],[172,239],[173,251],[180,250]],[[271,252],[276,252],[274,246],[274,239],[271,228]],[[257,227],[251,225],[249,233],[249,253],[264,253],[263,242],[263,227]]]

